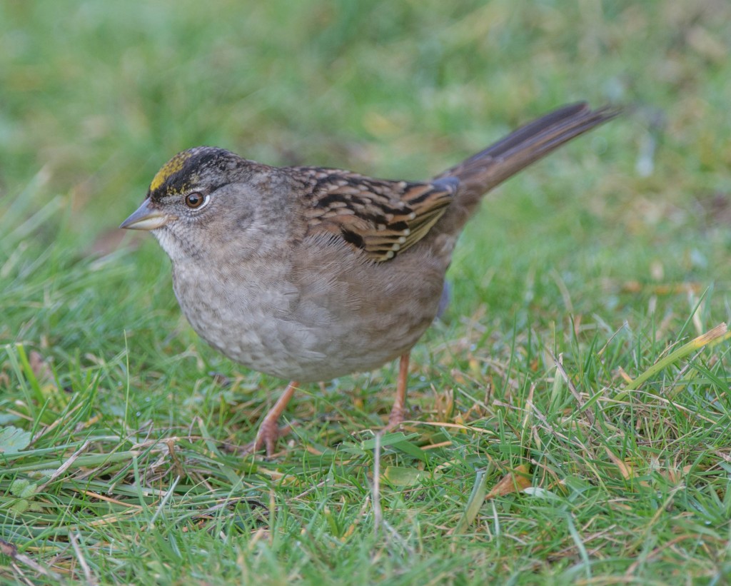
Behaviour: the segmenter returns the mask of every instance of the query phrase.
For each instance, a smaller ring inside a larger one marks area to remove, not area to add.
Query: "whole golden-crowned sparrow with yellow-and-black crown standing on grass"
[[[300,382],[397,357],[390,425],[400,423],[409,351],[436,315],[455,240],[482,194],[614,115],[561,107],[423,183],[191,148],[159,170],[121,227],[159,240],[178,302],[204,340],[292,381],[254,442],[270,454]]]

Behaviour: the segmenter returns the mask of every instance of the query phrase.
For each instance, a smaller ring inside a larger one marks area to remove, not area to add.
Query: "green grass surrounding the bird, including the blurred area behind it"
[[[678,584],[731,574],[731,11],[704,0],[0,5],[0,582]],[[626,115],[486,198],[395,368],[216,354],[153,239],[173,153],[423,178]],[[124,238],[124,240],[120,240]],[[705,332],[708,338],[692,343]]]

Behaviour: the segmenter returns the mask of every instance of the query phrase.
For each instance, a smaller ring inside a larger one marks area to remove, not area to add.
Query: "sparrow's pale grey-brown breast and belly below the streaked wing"
[[[225,276],[176,265],[175,294],[194,330],[247,368],[308,382],[378,368],[431,324],[444,269],[428,251],[387,267],[331,239],[303,245]]]

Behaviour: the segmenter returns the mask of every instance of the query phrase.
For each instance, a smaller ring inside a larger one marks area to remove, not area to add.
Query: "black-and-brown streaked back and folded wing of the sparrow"
[[[300,167],[309,175],[308,233],[329,232],[377,262],[421,240],[442,217],[457,192],[458,179],[409,183],[355,173]]]

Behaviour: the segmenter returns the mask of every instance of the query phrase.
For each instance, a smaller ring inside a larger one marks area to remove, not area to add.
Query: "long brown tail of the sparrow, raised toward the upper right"
[[[444,171],[438,179],[455,177],[460,183],[455,201],[447,208],[440,227],[444,232],[458,232],[483,194],[618,113],[619,110],[612,107],[591,110],[584,102],[560,107]]]

